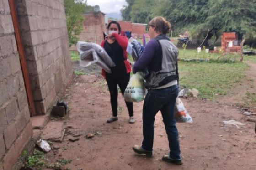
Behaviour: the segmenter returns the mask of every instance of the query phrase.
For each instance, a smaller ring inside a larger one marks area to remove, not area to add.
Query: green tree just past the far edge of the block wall
[[[64,0],[69,46],[76,44],[79,40],[78,36],[83,29],[85,20],[83,13],[90,10],[90,6],[88,7],[86,3],[87,1],[84,0]]]

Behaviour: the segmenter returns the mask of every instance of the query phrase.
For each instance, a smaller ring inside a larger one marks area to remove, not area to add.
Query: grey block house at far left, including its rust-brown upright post
[[[19,170],[30,116],[48,113],[72,79],[63,3],[0,0],[0,170]]]

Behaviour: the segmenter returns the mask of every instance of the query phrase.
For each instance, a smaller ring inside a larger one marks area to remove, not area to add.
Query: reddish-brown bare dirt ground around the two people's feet
[[[77,63],[74,63],[74,68],[77,69]],[[72,160],[64,166],[71,170],[256,170],[255,123],[247,121],[256,116],[242,114],[247,108],[235,105],[241,100],[241,94],[247,91],[244,88],[255,90],[256,71],[252,70],[256,70],[256,65],[252,64],[251,72],[246,72],[249,77],[245,77],[243,90],[240,89],[243,85],[234,87],[230,94],[234,98],[220,98],[219,102],[182,98],[193,123],[177,123],[183,159],[181,166],[161,160],[169,149],[160,113],[155,119],[153,157],[146,158],[133,152],[132,146],[141,144],[143,138],[143,102],[133,103],[136,123],[129,124],[128,111],[119,93],[119,119],[112,124],[106,123],[112,116],[110,96],[100,71],[95,69],[95,74],[75,76],[66,90],[64,101],[69,104],[70,114],[66,119],[58,120],[64,121],[66,133],[63,142],[53,143],[57,149],[46,154],[48,160]],[[235,92],[237,95],[232,95]],[[245,125],[223,123],[232,119]],[[87,139],[85,136],[89,133],[94,137]],[[72,136],[79,140],[69,141]]]

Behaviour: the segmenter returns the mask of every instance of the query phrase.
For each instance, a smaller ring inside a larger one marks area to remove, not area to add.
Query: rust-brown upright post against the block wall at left
[[[27,70],[25,52],[24,52],[24,48],[22,45],[22,41],[21,41],[21,34],[20,34],[20,29],[19,29],[19,24],[18,24],[16,6],[14,3],[14,0],[8,0],[8,1],[9,1],[9,5],[10,5],[11,18],[12,18],[15,38],[16,38],[20,62],[21,62],[22,75],[24,78],[24,83],[25,83],[25,88],[26,88],[26,93],[27,93],[29,111],[30,111],[31,116],[36,116],[36,108],[35,108],[35,103],[34,103],[34,99],[33,99],[32,88],[31,88],[31,84],[30,84],[30,80],[29,80],[29,73]]]

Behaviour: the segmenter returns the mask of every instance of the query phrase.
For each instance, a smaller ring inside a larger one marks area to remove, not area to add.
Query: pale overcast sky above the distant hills
[[[103,13],[121,13],[120,9],[123,5],[127,5],[125,0],[87,0],[87,4],[91,6],[99,5]]]

